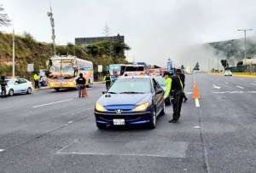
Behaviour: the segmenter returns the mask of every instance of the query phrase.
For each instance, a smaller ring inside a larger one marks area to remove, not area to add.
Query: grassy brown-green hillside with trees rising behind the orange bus
[[[130,49],[125,43],[100,42],[87,46],[57,45],[57,55],[76,55],[84,60],[92,61],[95,69],[103,65],[127,63],[124,51]],[[35,71],[46,69],[46,61],[52,56],[51,44],[37,42],[30,34],[15,35],[15,73],[17,76],[27,76],[27,64],[33,63]],[[0,32],[0,75],[10,76],[12,72],[12,34]]]

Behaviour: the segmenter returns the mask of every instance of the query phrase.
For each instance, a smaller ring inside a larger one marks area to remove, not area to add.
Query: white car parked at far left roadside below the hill
[[[31,94],[32,93],[32,83],[26,80],[25,78],[6,78],[7,95],[15,95],[15,94]],[[1,89],[0,89],[1,93]]]

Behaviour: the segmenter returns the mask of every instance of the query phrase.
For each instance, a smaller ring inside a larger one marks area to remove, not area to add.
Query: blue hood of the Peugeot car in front
[[[151,93],[148,94],[105,94],[98,103],[104,107],[136,106],[152,101]]]

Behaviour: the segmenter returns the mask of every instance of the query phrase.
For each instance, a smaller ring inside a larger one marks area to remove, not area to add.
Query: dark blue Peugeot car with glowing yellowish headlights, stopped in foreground
[[[154,129],[158,115],[164,115],[164,90],[154,78],[135,76],[119,78],[96,101],[96,126],[104,129],[113,126],[149,125]]]

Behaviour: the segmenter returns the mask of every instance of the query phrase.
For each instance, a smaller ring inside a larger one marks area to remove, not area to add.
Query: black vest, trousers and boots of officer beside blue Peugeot
[[[177,123],[183,104],[183,83],[178,75],[172,76],[172,92],[173,118],[169,123]]]

